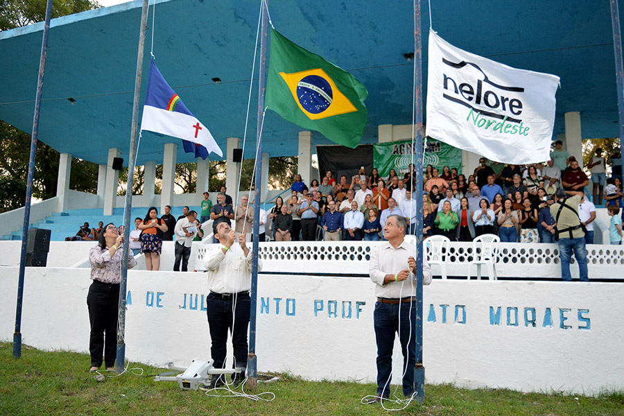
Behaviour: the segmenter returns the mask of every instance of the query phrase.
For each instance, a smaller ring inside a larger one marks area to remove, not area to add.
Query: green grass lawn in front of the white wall
[[[142,367],[144,374],[164,370]],[[98,382],[89,374],[89,357],[73,352],[22,349],[12,358],[12,345],[0,343],[0,415],[379,415],[379,404],[360,399],[372,384],[302,381],[281,374],[281,381],[259,383],[257,392],[275,393],[274,401],[207,397],[180,390],[177,383],[154,382],[150,376],[125,373]],[[409,415],[624,415],[624,394],[599,397],[465,390],[452,385],[426,385],[424,405],[413,402]]]

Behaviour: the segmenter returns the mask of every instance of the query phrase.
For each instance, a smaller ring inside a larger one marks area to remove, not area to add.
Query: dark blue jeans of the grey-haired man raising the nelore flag
[[[399,328],[399,312],[400,324]],[[407,397],[414,392],[414,367],[416,364],[416,302],[396,305],[375,303],[373,315],[377,343],[377,395],[390,396],[390,376],[392,374],[392,347],[395,333],[399,333],[403,353],[403,394]]]

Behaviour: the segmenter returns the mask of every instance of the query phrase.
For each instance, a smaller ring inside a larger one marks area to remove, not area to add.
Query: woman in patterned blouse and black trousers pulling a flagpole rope
[[[119,309],[119,283],[123,261],[123,236],[113,223],[107,224],[100,233],[98,245],[89,250],[91,279],[87,306],[91,336],[91,372],[102,365],[102,356],[107,370],[114,370],[117,345],[117,317]],[[128,250],[128,268],[137,266],[132,250]],[[106,334],[106,338],[104,335]]]

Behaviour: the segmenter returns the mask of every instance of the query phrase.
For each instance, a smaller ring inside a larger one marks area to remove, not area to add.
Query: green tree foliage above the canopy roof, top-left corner
[[[52,17],[67,16],[101,7],[97,1],[54,0]],[[46,0],[0,0],[0,31],[44,21]]]

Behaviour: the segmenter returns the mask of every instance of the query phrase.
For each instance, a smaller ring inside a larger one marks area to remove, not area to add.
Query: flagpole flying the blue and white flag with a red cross
[[[121,284],[119,285],[119,324],[117,326],[117,356],[115,370],[123,372],[125,365],[125,293],[128,281],[128,252],[130,252],[130,214],[132,212],[132,187],[135,182],[135,153],[137,148],[137,125],[139,124],[139,101],[141,100],[141,78],[143,76],[143,51],[149,0],[143,0],[141,28],[139,30],[139,53],[137,53],[137,75],[135,76],[135,97],[132,103],[132,128],[130,129],[130,156],[128,157],[128,186],[125,189],[125,209],[123,211],[123,263]]]

